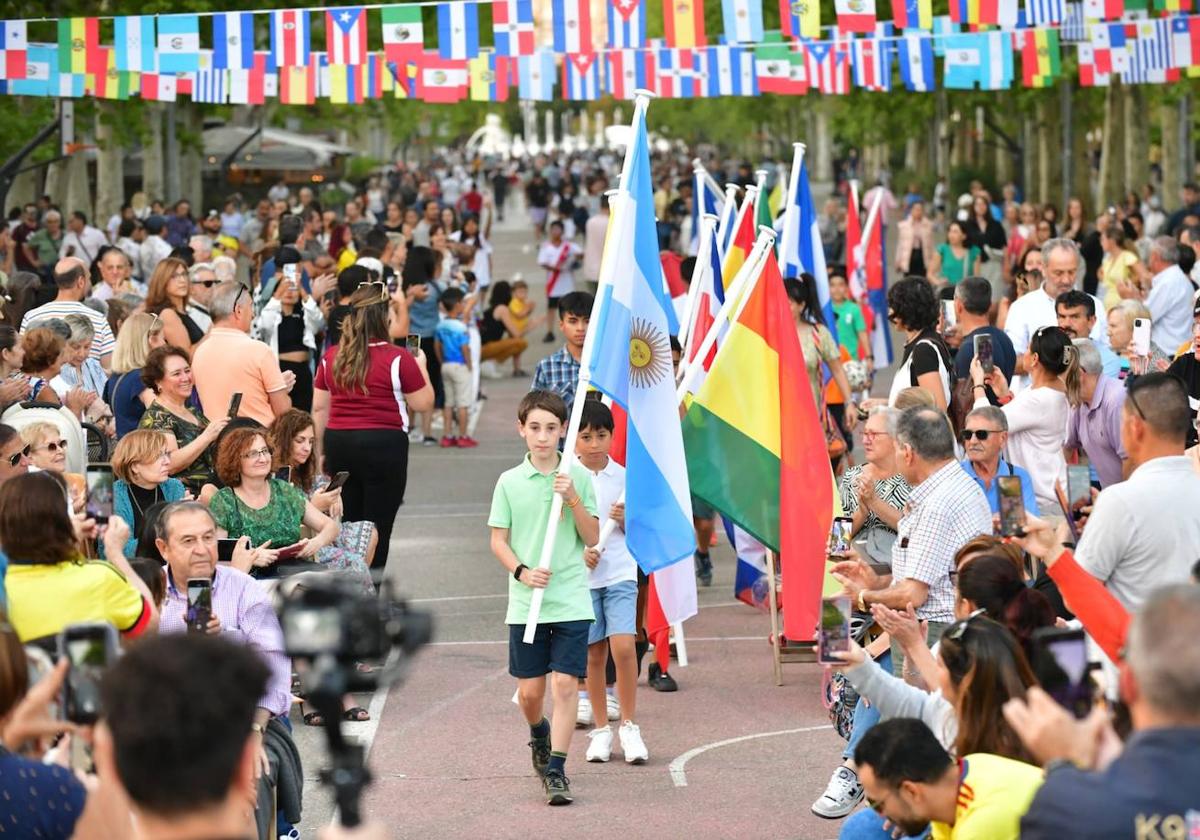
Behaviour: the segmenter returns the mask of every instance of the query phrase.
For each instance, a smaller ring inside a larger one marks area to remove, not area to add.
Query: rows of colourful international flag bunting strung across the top
[[[716,38],[703,0],[664,2],[665,37],[647,38],[646,0],[605,0],[602,13],[589,0],[551,0],[541,44],[533,0],[0,20],[0,94],[353,104],[551,101],[556,91],[630,100],[638,88],[664,98],[1003,90],[1018,66],[1026,88],[1055,84],[1064,49],[1081,86],[1200,76],[1193,0],[952,0],[948,16],[934,16],[931,0],[826,0],[836,16],[827,28],[818,0],[779,0],[774,31],[763,30],[764,0],[719,1]],[[31,24],[49,35],[50,23],[55,41],[30,41]]]

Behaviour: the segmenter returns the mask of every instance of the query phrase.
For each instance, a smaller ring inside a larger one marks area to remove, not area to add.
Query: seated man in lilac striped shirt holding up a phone
[[[170,505],[158,522],[155,541],[167,560],[167,600],[162,605],[158,631],[187,632],[187,581],[212,581],[210,632],[246,644],[270,668],[266,694],[254,713],[259,736],[259,772],[268,773],[263,730],[272,716],[286,716],[292,707],[292,660],[283,644],[283,629],[263,587],[250,575],[232,566],[217,565],[217,526],[209,509],[198,502]]]

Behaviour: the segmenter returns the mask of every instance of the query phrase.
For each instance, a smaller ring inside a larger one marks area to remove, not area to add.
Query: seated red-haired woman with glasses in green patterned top
[[[232,539],[248,536],[263,546],[254,577],[271,577],[280,548],[293,547],[293,557],[316,558],[337,539],[337,522],[329,518],[295,486],[271,478],[271,448],[262,428],[235,428],[224,436],[217,454],[217,473],[224,482],[209,502],[217,526]],[[316,536],[302,539],[307,526]]]

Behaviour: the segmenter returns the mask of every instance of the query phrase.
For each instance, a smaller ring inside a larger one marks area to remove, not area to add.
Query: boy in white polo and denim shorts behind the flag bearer
[[[620,702],[620,750],[630,764],[649,758],[642,732],[634,722],[637,697],[637,654],[634,640],[637,632],[637,563],[625,547],[625,468],[608,457],[612,449],[612,412],[599,400],[583,403],[575,454],[592,473],[596,511],[600,518],[611,517],[618,528],[602,546],[583,552],[592,589],[592,611],[595,623],[588,635],[588,697],[592,718],[607,721],[605,667],[612,650],[617,666],[617,700]],[[602,551],[601,551],[602,550]],[[588,761],[608,761],[612,757],[612,728],[604,726],[588,733]]]

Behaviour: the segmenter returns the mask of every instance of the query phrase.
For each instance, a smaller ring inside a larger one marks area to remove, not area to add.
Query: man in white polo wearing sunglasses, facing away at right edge
[[[1129,478],[1097,497],[1075,550],[1079,565],[1129,612],[1157,587],[1187,581],[1200,557],[1200,476],[1183,454],[1192,416],[1174,376],[1129,383],[1121,409]]]

